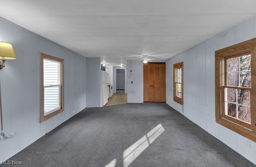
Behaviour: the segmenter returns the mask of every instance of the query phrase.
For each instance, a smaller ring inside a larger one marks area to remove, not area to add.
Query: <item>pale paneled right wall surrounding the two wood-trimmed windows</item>
[[[256,18],[166,61],[166,103],[256,164],[256,143],[215,122],[215,51],[256,37]],[[173,64],[184,62],[184,110],[173,101]],[[250,147],[246,145],[250,142]]]

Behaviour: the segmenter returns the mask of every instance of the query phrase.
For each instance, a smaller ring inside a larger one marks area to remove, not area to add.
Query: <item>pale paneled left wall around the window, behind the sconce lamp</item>
[[[2,18],[0,41],[12,43],[17,57],[0,70],[4,133],[16,133],[0,140],[0,161],[5,161],[86,107],[86,58]],[[64,59],[64,112],[42,123],[38,121],[40,52]]]

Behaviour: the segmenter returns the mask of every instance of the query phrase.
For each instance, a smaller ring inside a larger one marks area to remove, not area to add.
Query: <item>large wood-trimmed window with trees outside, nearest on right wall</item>
[[[215,51],[216,122],[256,141],[256,38]]]

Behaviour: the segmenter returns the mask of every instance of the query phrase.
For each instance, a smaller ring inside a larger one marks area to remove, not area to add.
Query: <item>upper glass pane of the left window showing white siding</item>
[[[44,59],[44,86],[59,84],[59,65],[60,62]]]

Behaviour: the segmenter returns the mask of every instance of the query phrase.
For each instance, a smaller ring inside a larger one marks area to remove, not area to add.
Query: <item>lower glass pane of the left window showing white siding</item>
[[[59,107],[58,103],[59,86],[44,88],[44,112]]]

